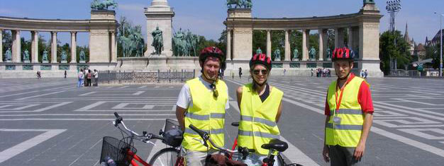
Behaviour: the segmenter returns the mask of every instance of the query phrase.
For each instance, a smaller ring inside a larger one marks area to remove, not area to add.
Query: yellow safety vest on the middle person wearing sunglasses
[[[255,149],[256,153],[261,155],[268,154],[268,150],[260,146],[269,143],[273,138],[279,138],[276,115],[283,95],[281,90],[274,87],[262,102],[257,92],[252,89],[252,83],[243,86],[238,146]]]

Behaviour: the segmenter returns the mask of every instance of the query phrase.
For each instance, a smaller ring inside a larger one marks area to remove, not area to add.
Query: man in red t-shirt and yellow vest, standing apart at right
[[[360,165],[373,121],[370,85],[356,77],[353,51],[337,48],[332,61],[337,81],[328,87],[323,158],[336,165]]]

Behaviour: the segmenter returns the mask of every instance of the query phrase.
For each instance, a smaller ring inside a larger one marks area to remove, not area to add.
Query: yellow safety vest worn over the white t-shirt
[[[187,81],[189,91],[192,96],[193,105],[188,107],[185,114],[185,132],[182,146],[187,150],[206,151],[207,148],[199,141],[194,140],[202,138],[192,129],[189,124],[193,124],[197,129],[204,130],[210,134],[211,140],[217,146],[224,146],[224,124],[225,124],[225,106],[228,100],[228,90],[226,84],[218,80],[216,90],[218,97],[213,97],[213,92],[208,90],[200,78],[194,78]],[[212,148],[211,143],[209,143]]]

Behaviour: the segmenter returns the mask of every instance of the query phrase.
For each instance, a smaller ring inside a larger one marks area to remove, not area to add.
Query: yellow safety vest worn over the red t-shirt
[[[337,81],[333,81],[328,87],[327,102],[331,116],[326,124],[326,145],[356,147],[359,143],[364,124],[364,114],[357,100],[357,94],[363,81],[365,80],[355,76],[345,85],[343,92],[340,92],[339,88],[336,92]],[[335,93],[338,93],[338,98],[340,93],[343,93],[338,110],[336,110],[337,99]],[[335,117],[340,118],[339,123],[333,121]]]

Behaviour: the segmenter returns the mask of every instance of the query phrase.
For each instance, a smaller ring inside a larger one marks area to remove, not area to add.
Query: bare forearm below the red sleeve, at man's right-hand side
[[[360,160],[364,155],[365,142],[367,142],[367,137],[370,132],[370,128],[372,128],[372,123],[373,123],[373,114],[365,113],[364,126],[362,126],[361,138],[359,140],[359,143],[357,143],[355,154],[353,155],[355,156],[356,160]]]

